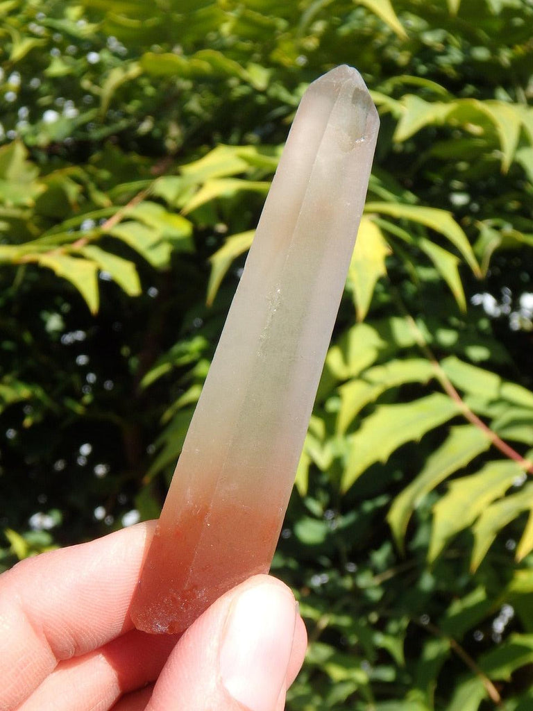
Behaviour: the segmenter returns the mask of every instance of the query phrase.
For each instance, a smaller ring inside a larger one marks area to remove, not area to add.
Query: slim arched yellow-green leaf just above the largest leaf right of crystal
[[[357,380],[349,380],[339,387],[337,431],[344,434],[360,410],[369,402],[377,400],[389,387],[405,383],[427,383],[434,375],[434,367],[426,358],[389,360],[384,365],[375,365],[365,370]]]

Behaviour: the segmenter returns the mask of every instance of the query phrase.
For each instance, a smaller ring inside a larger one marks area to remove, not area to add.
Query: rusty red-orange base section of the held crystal
[[[269,571],[284,510],[215,508],[193,505],[171,530],[158,525],[129,611],[137,629],[181,633],[227,590]]]

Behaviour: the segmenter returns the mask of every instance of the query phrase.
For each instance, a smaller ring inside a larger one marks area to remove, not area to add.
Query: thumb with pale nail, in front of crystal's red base
[[[281,711],[305,649],[291,590],[267,575],[250,578],[181,637],[146,711]]]

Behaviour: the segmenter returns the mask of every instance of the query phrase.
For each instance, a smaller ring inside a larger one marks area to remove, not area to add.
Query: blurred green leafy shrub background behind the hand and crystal
[[[273,565],[288,709],[533,708],[532,27],[0,2],[0,567],[158,515],[298,100],[348,63],[382,127]]]

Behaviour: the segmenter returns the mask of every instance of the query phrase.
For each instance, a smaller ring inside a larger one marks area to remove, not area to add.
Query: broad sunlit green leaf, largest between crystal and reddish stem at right
[[[426,432],[458,415],[460,410],[456,402],[440,392],[407,404],[379,405],[351,438],[343,491],[369,466],[377,461],[386,462],[402,444],[418,442]]]

